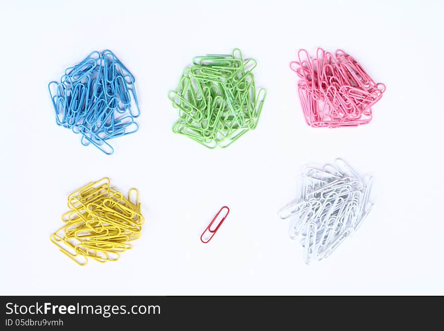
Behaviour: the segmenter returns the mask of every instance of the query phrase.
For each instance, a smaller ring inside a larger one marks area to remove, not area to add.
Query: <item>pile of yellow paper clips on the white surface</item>
[[[50,240],[80,266],[88,263],[88,257],[116,261],[132,248],[129,241],[140,238],[144,218],[135,188],[125,197],[102,178],[71,193],[68,208],[62,216],[66,224]]]

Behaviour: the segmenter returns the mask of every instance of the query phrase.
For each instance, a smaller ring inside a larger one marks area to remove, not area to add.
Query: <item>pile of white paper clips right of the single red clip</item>
[[[301,236],[305,263],[328,257],[370,212],[371,176],[358,176],[343,160],[303,170],[298,197],[281,209],[290,238]]]

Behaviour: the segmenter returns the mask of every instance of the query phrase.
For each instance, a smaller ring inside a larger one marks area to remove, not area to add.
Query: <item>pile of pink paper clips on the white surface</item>
[[[375,83],[361,65],[338,49],[333,55],[322,48],[310,58],[305,49],[290,68],[300,78],[299,97],[310,126],[357,126],[370,122],[371,107],[382,97],[385,86]]]

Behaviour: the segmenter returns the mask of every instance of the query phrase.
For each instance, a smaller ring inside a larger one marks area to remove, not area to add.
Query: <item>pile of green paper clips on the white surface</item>
[[[169,93],[180,117],[173,131],[208,148],[225,148],[256,128],[266,91],[256,94],[255,67],[256,61],[244,60],[239,49],[195,57],[177,90]]]

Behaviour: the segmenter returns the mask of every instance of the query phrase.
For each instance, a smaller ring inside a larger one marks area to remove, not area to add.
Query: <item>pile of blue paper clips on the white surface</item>
[[[82,135],[105,154],[114,149],[110,139],[135,133],[140,115],[135,79],[109,50],[94,51],[65,70],[59,82],[50,82],[49,94],[58,125]]]

